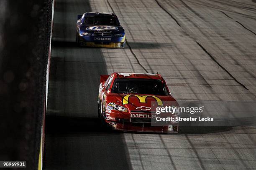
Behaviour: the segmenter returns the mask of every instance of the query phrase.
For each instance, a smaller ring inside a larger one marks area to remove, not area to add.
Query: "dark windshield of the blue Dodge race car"
[[[95,17],[86,17],[84,24],[92,25],[118,25],[115,17],[112,16],[95,16]]]

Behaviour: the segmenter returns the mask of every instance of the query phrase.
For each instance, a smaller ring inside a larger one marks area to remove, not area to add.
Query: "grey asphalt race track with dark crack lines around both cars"
[[[75,44],[77,15],[110,12],[124,49]],[[56,0],[46,170],[252,170],[256,126],[182,127],[177,135],[102,131],[101,74],[161,74],[177,99],[256,100],[251,0]]]

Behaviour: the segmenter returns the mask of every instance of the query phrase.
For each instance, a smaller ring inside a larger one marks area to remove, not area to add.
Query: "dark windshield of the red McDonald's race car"
[[[160,80],[117,78],[113,84],[113,93],[168,95],[167,89]]]

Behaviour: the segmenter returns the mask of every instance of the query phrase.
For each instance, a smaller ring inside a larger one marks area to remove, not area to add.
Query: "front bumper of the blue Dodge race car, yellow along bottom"
[[[124,37],[79,36],[79,45],[81,46],[123,48],[124,44],[125,44],[125,36]]]

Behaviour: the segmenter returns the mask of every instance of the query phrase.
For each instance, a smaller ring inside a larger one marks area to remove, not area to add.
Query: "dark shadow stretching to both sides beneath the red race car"
[[[206,134],[218,133],[232,130],[232,126],[180,126],[179,133],[173,134]],[[68,116],[46,116],[46,133],[61,134],[122,134],[122,133],[145,133],[145,132],[123,132],[110,129],[103,130],[100,119],[91,117],[68,117]],[[159,133],[149,133],[159,134]],[[170,134],[170,133],[166,133]]]

